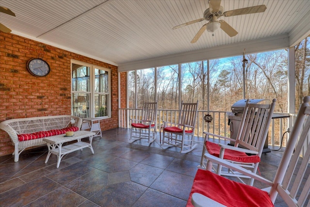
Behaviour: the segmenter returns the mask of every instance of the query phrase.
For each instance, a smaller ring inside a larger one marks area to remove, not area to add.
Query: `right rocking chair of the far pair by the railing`
[[[198,111],[197,103],[183,103],[179,111],[178,123],[164,122],[163,124],[163,144],[166,146],[177,146],[181,148],[181,153],[192,151],[197,144],[194,144],[194,132]]]

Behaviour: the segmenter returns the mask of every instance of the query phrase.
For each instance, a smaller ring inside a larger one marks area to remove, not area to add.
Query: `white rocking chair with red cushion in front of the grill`
[[[275,109],[276,99],[273,99],[272,104],[251,104],[250,100],[247,100],[240,127],[236,140],[204,132],[205,140],[202,150],[201,167],[206,168],[205,162],[208,161],[206,155],[211,154],[219,157],[220,159],[226,159],[230,162],[236,163],[247,169],[251,169],[253,173],[256,173],[258,164],[261,161],[261,155],[263,152],[263,146],[268,134],[273,111]],[[234,146],[227,144],[218,144],[211,142],[210,137],[218,137],[222,140],[233,141]],[[243,146],[244,148],[240,148]],[[250,154],[250,156],[248,155]],[[233,172],[232,169],[222,169],[220,164],[217,164],[217,168],[214,171],[217,175],[233,176],[245,183],[241,178],[250,178],[247,175],[242,175],[237,172]],[[248,185],[253,185],[254,179],[248,180]]]

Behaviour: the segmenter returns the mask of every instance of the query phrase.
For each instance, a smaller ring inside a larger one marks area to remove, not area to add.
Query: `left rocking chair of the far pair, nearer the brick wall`
[[[141,119],[131,119],[130,140],[148,139],[148,143],[155,141],[157,123],[157,101],[144,102]]]

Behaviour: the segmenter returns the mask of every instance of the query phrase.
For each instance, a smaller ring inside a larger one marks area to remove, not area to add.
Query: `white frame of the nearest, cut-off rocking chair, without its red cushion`
[[[211,171],[212,162],[217,162],[222,166],[238,171],[244,175],[248,175],[257,181],[267,184],[268,188],[262,189],[267,191],[272,203],[275,202],[279,195],[289,207],[304,207],[308,202],[307,207],[310,206],[310,175],[309,175],[309,161],[310,161],[310,96],[303,98],[297,118],[295,120],[293,130],[291,132],[289,141],[286,145],[282,159],[280,161],[277,173],[273,181],[265,179],[245,168],[242,168],[234,163],[228,162],[224,159],[219,159],[210,154],[206,155],[209,160],[207,170]],[[297,144],[296,144],[297,143]],[[303,158],[301,158],[302,151],[305,151]],[[307,172],[306,172],[307,171]],[[207,178],[206,178],[207,179]],[[195,194],[195,195],[194,195]],[[236,198],[243,199],[243,195]],[[255,195],[253,195],[255,199]],[[209,201],[212,200],[202,194],[193,193],[191,202],[195,207],[208,206]],[[214,202],[212,200],[212,202]],[[211,202],[211,203],[212,203]],[[221,205],[221,204],[220,204]]]

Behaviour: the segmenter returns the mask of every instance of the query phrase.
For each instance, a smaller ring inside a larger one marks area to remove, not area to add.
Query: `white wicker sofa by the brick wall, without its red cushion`
[[[55,131],[54,129],[64,129],[73,127],[79,130],[82,125],[82,119],[71,115],[41,116],[31,118],[9,119],[0,123],[0,129],[6,131],[15,146],[13,155],[17,162],[19,154],[27,147],[46,144],[43,138],[36,138],[26,141],[19,141],[20,136],[29,135],[35,132]],[[78,127],[78,129],[76,128]],[[62,130],[63,131],[63,130]],[[19,138],[19,139],[18,139]]]

